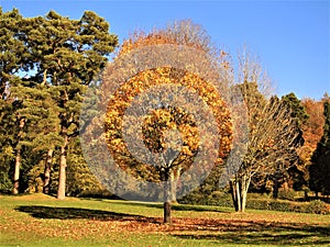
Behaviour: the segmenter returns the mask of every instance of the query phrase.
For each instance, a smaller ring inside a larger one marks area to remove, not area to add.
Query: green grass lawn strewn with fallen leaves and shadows
[[[330,246],[330,215],[0,195],[0,246]]]

